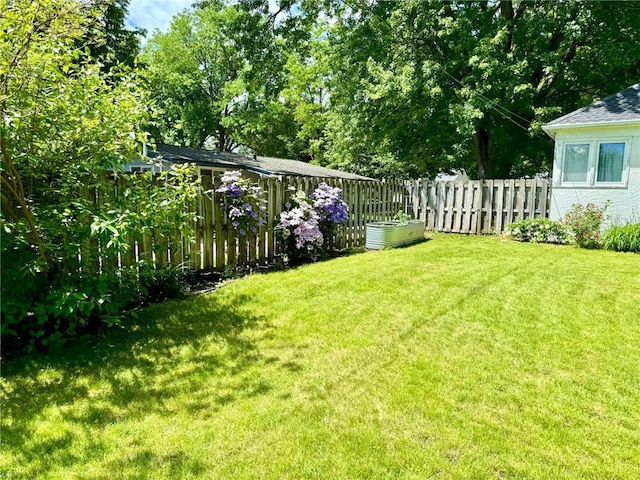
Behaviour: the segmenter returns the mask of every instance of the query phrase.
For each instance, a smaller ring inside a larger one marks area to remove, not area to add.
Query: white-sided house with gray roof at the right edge
[[[551,219],[610,202],[608,223],[640,222],[640,83],[542,128],[555,140]]]

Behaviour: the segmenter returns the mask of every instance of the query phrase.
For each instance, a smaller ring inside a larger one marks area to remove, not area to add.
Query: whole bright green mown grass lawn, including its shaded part
[[[640,256],[436,235],[2,371],[1,478],[640,478]]]

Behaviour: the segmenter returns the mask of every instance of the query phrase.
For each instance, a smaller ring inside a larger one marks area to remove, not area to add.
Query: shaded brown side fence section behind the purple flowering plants
[[[349,219],[334,239],[338,248],[364,246],[368,222],[391,220],[399,210],[406,208],[407,192],[401,181],[294,176],[262,178],[258,185],[267,200],[267,224],[256,234],[240,236],[220,207],[221,197],[215,192],[218,179],[203,175],[202,185],[206,193],[192,206],[199,217],[195,236],[187,239],[177,234],[170,238],[147,234],[132,238],[129,251],[120,262],[131,264],[142,258],[153,258],[159,267],[170,262],[194,270],[216,271],[223,271],[228,266],[268,265],[279,254],[274,227],[290,197],[296,190],[310,194],[322,182],[341,188],[349,207]]]

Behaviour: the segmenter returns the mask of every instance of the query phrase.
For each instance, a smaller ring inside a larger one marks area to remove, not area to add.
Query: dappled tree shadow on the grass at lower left
[[[215,295],[153,305],[126,328],[76,340],[57,355],[7,363],[0,395],[3,450],[16,455],[15,463],[33,478],[56,461],[86,461],[87,444],[103,451],[107,446],[96,432],[119,421],[177,411],[195,419],[269,392],[271,386],[254,368],[279,362],[256,347],[269,325],[243,309],[251,298],[232,301]],[[39,424],[52,422],[58,431],[38,438]],[[73,448],[79,440],[83,447]],[[42,461],[52,453],[51,462]],[[201,470],[196,459],[190,463],[184,457],[187,453],[176,455],[182,468],[193,466],[190,473]],[[134,463],[144,471],[157,461],[151,455],[147,462],[143,455]]]

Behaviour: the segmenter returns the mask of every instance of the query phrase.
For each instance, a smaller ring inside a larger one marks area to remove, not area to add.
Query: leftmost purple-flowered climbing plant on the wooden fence
[[[251,180],[242,178],[239,171],[225,173],[216,192],[222,194],[220,206],[226,212],[231,225],[240,235],[257,233],[265,225],[266,200],[262,188]]]

